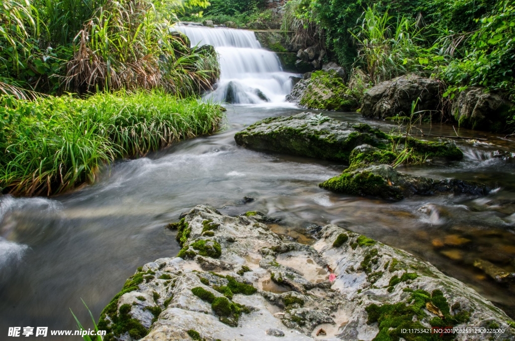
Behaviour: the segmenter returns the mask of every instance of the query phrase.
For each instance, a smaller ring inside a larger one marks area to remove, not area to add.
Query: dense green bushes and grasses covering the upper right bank
[[[515,93],[513,0],[291,0],[283,28],[316,37],[351,84],[418,73],[450,99],[470,86]]]

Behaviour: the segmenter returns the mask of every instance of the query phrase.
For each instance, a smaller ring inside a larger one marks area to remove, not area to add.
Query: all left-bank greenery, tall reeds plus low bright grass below
[[[170,29],[201,0],[6,0],[0,6],[0,187],[50,195],[116,158],[216,129],[197,95],[213,48]],[[73,92],[70,94],[68,92]],[[55,97],[61,95],[60,97]]]

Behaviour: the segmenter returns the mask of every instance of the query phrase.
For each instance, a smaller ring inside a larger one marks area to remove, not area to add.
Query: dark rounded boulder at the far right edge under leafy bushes
[[[506,129],[506,122],[513,116],[509,112],[512,107],[502,93],[470,87],[454,100],[452,113],[460,127],[499,132]]]

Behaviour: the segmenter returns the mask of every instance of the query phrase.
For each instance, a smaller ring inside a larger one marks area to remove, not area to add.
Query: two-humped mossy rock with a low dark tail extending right
[[[369,145],[356,147],[350,154],[350,166],[341,175],[319,184],[323,189],[358,196],[374,196],[387,200],[401,200],[411,195],[435,193],[464,193],[486,195],[489,189],[458,179],[433,180],[401,174],[390,164],[397,159],[394,152]]]

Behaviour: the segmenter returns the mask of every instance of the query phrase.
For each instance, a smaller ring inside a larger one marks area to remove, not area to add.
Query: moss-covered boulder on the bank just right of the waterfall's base
[[[286,100],[307,109],[353,111],[359,104],[335,70],[317,71],[297,83]]]

